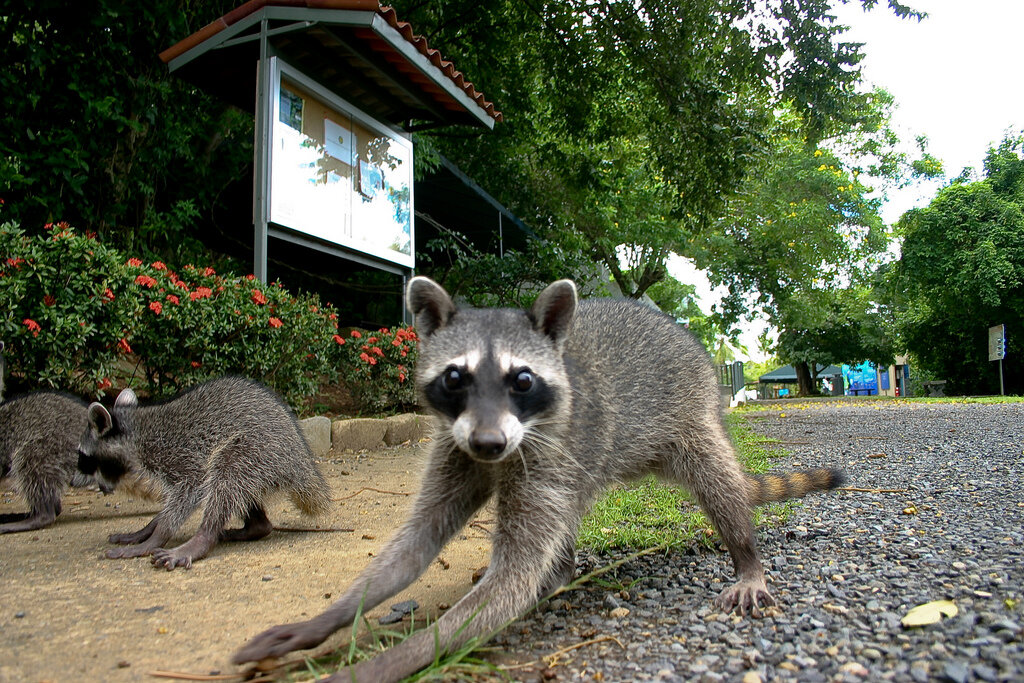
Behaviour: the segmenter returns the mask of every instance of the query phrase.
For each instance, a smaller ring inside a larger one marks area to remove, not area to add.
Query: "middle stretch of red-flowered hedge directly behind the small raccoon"
[[[185,265],[179,275],[161,261],[127,265],[143,309],[132,348],[155,395],[234,373],[297,404],[336,377],[337,315],[316,297],[212,267]]]

